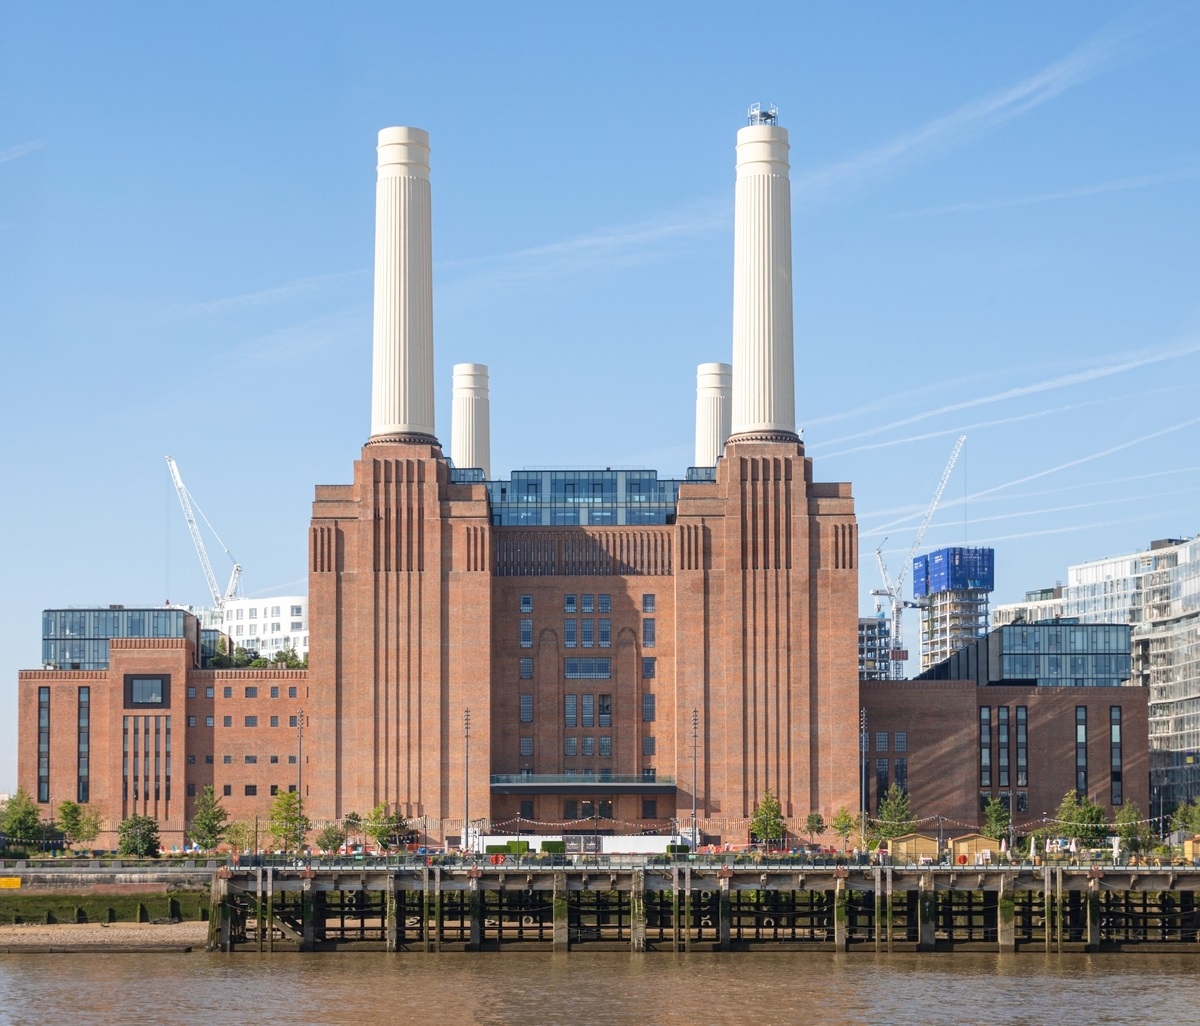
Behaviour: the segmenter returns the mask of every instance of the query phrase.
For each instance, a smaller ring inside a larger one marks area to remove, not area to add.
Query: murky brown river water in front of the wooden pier
[[[1196,955],[11,954],[0,1022],[1168,1024]]]

